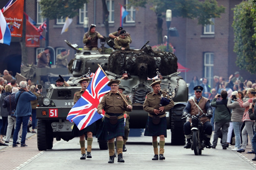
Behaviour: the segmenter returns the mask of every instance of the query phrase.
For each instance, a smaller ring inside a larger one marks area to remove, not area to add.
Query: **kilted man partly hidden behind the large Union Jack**
[[[80,99],[80,97],[83,95],[84,91],[86,90],[87,86],[89,85],[90,78],[84,78],[82,77],[81,80],[79,80],[78,83],[81,85],[81,90],[76,91],[74,94],[74,104]],[[79,130],[74,125],[72,129],[72,135],[73,136],[80,136],[80,147],[81,147],[81,157],[80,159],[86,159],[86,158],[92,158],[91,150],[92,150],[92,135],[96,133],[96,123],[92,123],[90,126],[87,126],[86,128]],[[87,136],[87,154],[85,152],[85,137]]]

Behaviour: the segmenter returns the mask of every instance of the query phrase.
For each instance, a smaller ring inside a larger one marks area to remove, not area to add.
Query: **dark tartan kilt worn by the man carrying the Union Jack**
[[[110,140],[118,136],[124,137],[124,117],[118,119],[115,125],[112,125],[109,118],[105,117],[96,134],[98,140]]]

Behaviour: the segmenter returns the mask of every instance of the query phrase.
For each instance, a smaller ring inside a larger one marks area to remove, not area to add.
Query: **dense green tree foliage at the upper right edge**
[[[240,69],[256,73],[256,48],[253,17],[251,16],[252,0],[243,1],[236,5],[234,10],[234,52],[237,53],[236,64]]]

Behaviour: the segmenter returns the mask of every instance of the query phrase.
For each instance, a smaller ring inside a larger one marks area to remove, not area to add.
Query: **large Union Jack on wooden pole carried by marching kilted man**
[[[103,95],[110,91],[108,83],[108,78],[98,68],[81,98],[69,111],[67,120],[74,122],[78,129],[82,130],[101,119],[105,115],[105,112],[102,110],[102,114],[98,114],[97,107]]]

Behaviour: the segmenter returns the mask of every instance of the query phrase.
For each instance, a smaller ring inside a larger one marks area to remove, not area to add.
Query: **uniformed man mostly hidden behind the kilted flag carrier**
[[[122,86],[121,84],[119,84],[119,88],[118,88],[118,91],[123,94],[123,91],[125,90],[124,86]],[[132,101],[130,100],[130,97],[128,95],[125,95],[126,97],[126,100],[129,104],[132,105]],[[123,137],[123,141],[124,141],[124,145],[123,145],[123,152],[126,152],[127,149],[126,149],[126,142],[128,140],[128,137],[129,137],[129,133],[130,133],[130,129],[129,129],[129,119],[130,119],[130,116],[129,116],[129,113],[130,112],[127,112],[125,111],[124,114],[126,115],[126,119],[125,119],[125,126],[124,126],[124,137]]]

